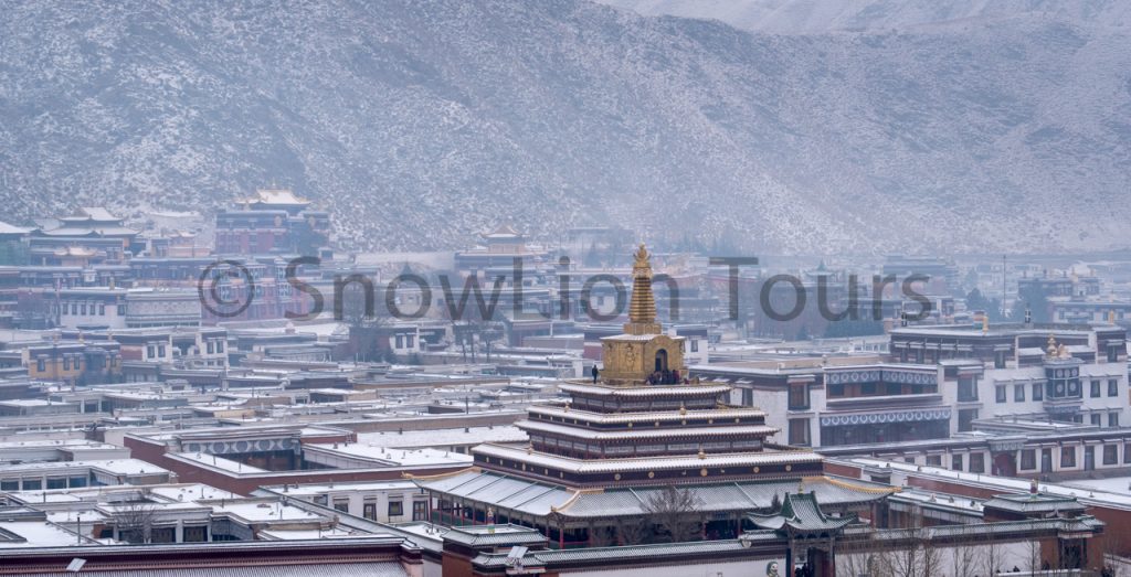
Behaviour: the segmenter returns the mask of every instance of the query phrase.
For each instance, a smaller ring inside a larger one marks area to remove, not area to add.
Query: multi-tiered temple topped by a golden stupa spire
[[[568,402],[533,406],[517,423],[528,446],[481,445],[474,470],[421,481],[438,498],[437,521],[525,524],[562,545],[593,543],[654,514],[674,486],[692,490],[706,534],[733,536],[746,513],[798,487],[839,510],[866,510],[888,492],[824,478],[820,456],[767,440],[778,429],[763,411],[728,405],[728,386],[687,381],[683,340],[656,321],[642,245],[624,333],[602,344],[598,382],[562,384]]]

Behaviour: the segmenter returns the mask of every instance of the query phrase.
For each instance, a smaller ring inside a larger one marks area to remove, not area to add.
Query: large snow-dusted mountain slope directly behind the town
[[[810,253],[1129,244],[1131,42],[1073,15],[765,35],[577,0],[0,14],[9,221],[277,182],[385,250],[500,220]]]

